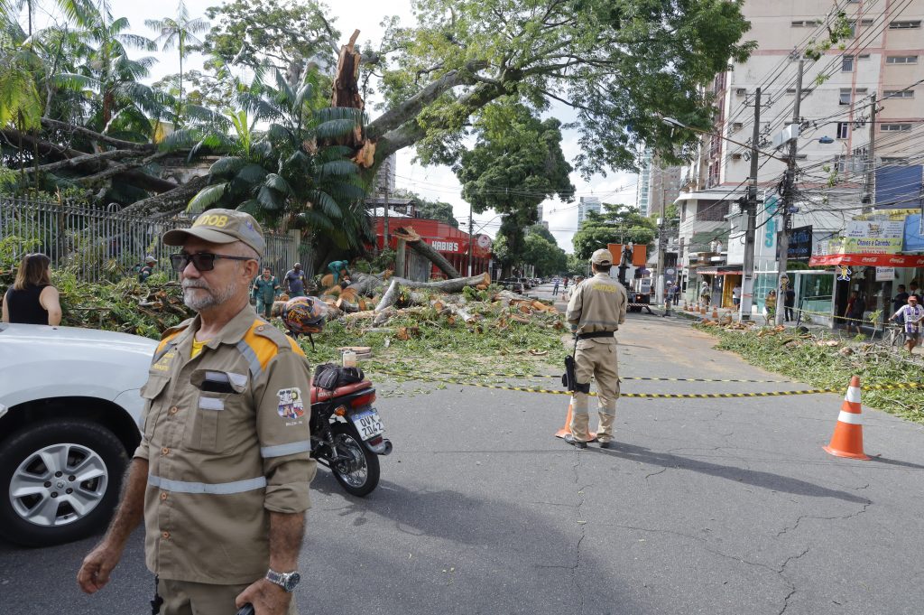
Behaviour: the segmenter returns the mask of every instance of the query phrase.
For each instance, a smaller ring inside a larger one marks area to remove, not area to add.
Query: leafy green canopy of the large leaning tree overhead
[[[393,27],[383,90],[390,107],[426,92],[406,117],[425,162],[458,160],[468,117],[505,96],[572,107],[581,133],[577,166],[590,175],[634,168],[652,147],[668,163],[699,136],[659,117],[711,127],[700,87],[756,46],[742,2],[726,0],[419,0],[418,26]],[[383,62],[384,64],[384,62]],[[429,88],[429,89],[428,89]]]

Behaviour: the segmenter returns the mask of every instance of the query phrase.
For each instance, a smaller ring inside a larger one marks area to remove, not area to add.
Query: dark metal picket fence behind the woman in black
[[[53,267],[69,267],[80,280],[97,282],[135,275],[136,267],[150,254],[157,259],[155,271],[176,277],[169,259],[176,248],[165,246],[161,237],[171,228],[191,225],[186,215],[131,215],[0,197],[0,255],[16,264],[28,252],[43,252]],[[295,262],[297,255],[297,238],[266,234],[264,264],[274,273]]]

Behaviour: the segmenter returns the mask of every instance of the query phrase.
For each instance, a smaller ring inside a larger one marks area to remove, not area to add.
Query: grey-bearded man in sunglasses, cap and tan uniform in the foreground
[[[78,582],[109,580],[143,516],[162,615],[296,612],[298,551],[310,507],[310,373],[291,338],[248,301],[264,240],[247,214],[213,209],[164,234],[183,299],[198,315],[154,352],[143,434],[103,542]]]

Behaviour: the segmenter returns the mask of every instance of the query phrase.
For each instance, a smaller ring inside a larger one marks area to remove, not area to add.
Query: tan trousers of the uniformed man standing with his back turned
[[[590,382],[590,376],[597,380],[600,427],[597,439],[609,442],[613,439],[613,422],[616,418],[616,400],[619,398],[619,367],[616,359],[616,340],[590,338],[577,340],[575,352],[575,379],[580,384]],[[571,433],[580,442],[590,439],[588,395],[575,392],[571,397]]]

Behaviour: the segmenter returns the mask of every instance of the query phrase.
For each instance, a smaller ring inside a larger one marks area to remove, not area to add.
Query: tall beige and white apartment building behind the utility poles
[[[740,279],[744,225],[729,218],[737,214],[736,200],[748,183],[756,90],[761,89],[759,147],[783,157],[786,150],[774,150],[773,138],[793,123],[799,59],[827,37],[838,8],[847,13],[852,35],[817,61],[804,62],[796,154],[799,211],[793,228],[810,227],[814,239],[821,240],[845,228],[864,207],[907,207],[920,191],[924,0],[748,0],[743,10],[751,30],[746,37],[758,48],[747,62],[717,75],[707,89],[717,109],[713,134],[704,136],[699,155],[685,168],[683,192],[676,200],[687,284],[692,289],[699,286],[695,278],[704,277],[718,293],[714,301],[730,295]],[[869,158],[870,138],[874,159]],[[766,155],[758,158],[761,201],[773,203],[785,164]],[[758,241],[755,256],[759,272],[777,270],[780,220],[772,205],[759,206],[759,235],[766,236]],[[717,247],[721,252],[715,252]],[[760,284],[755,287],[759,295]]]

